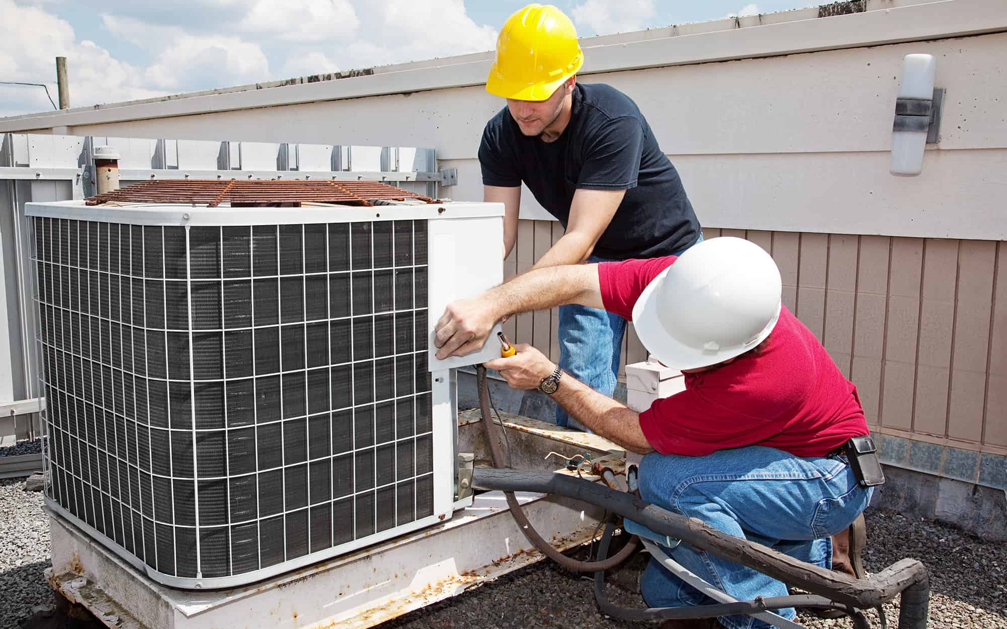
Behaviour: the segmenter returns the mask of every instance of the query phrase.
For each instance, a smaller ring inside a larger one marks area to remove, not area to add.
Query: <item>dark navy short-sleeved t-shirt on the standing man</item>
[[[482,183],[524,182],[564,227],[578,188],[625,190],[594,248],[600,258],[668,256],[699,238],[699,219],[678,171],[636,104],[611,86],[577,84],[570,124],[555,142],[522,134],[505,107],[482,132],[479,164]]]

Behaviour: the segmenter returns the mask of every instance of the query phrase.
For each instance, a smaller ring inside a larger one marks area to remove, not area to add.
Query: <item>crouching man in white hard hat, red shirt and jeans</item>
[[[505,316],[571,303],[631,318],[652,356],[685,373],[686,389],[636,413],[564,377],[527,344],[486,366],[516,388],[551,395],[602,437],[646,453],[639,472],[645,500],[831,568],[831,536],[871,496],[837,452],[869,433],[856,386],[781,304],[769,255],[720,238],[679,258],[532,271],[449,305],[436,325],[437,355],[484,340]],[[669,553],[736,599],[786,595],[784,584],[688,544]],[[710,602],[656,560],[641,586],[652,607]],[[778,613],[794,617],[793,609]],[[747,616],[719,621],[730,629],[769,626]]]

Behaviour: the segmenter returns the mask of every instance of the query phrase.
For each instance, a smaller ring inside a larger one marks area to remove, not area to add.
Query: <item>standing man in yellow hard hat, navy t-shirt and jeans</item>
[[[521,184],[566,233],[535,264],[680,254],[702,240],[699,220],[636,105],[610,86],[577,83],[584,56],[554,6],[512,15],[496,42],[486,91],[507,107],[479,146],[483,199],[502,202],[505,257],[518,234]],[[560,366],[611,396],[626,322],[603,310],[560,308]],[[484,338],[473,332],[468,349]],[[562,409],[557,424],[578,427]]]

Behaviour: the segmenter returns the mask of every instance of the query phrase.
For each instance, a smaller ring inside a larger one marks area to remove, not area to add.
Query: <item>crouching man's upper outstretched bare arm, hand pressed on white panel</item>
[[[602,307],[598,265],[533,269],[478,297],[451,302],[434,326],[437,357],[482,347],[490,329],[506,316],[565,304]]]

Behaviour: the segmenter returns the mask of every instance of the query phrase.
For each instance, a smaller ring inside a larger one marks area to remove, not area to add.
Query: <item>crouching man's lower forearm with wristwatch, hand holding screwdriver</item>
[[[542,378],[552,375],[556,365],[531,345],[522,343],[515,347],[517,354],[490,360],[486,367],[499,371],[514,388],[538,388]],[[639,454],[654,450],[639,427],[638,413],[599,394],[569,373],[560,377],[560,386],[553,394],[553,399],[596,435]]]

